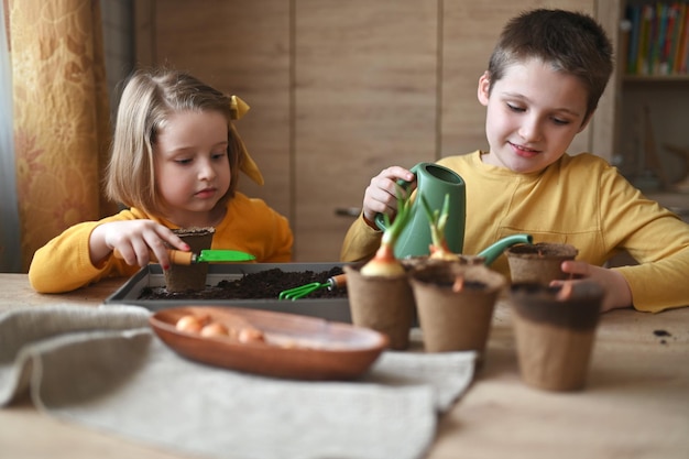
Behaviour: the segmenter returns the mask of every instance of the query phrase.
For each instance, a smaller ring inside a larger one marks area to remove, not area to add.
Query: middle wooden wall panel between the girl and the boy
[[[436,0],[296,0],[295,171],[302,261],[332,261],[371,177],[436,151]]]

